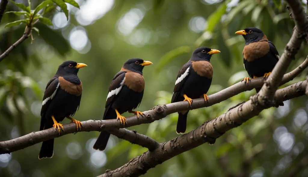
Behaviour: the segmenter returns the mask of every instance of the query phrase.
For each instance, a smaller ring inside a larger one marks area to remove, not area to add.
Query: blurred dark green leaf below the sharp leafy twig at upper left
[[[43,38],[47,44],[51,45],[59,55],[65,56],[70,52],[71,46],[62,36],[61,32],[55,31],[42,23],[38,23],[35,26],[40,29],[40,37]]]

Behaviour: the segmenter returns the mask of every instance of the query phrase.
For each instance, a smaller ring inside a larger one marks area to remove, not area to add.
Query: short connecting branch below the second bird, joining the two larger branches
[[[157,143],[154,139],[137,133],[135,130],[128,130],[125,128],[121,129],[111,129],[108,130],[109,133],[117,136],[118,138],[127,140],[132,144],[138,144],[144,148],[148,148],[149,151],[156,149],[160,144]]]

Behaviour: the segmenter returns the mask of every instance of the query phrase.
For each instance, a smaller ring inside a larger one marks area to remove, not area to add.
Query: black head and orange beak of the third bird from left
[[[216,49],[211,49],[209,47],[199,47],[198,49],[193,51],[193,55],[190,58],[190,61],[210,61],[212,55],[215,53],[220,53],[220,51]]]

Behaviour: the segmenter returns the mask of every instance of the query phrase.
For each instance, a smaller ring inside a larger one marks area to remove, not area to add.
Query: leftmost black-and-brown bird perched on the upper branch
[[[39,130],[60,128],[60,121],[66,117],[76,124],[76,132],[81,129],[81,122],[71,118],[79,108],[82,83],[77,76],[80,68],[87,66],[75,61],[63,62],[55,76],[47,83],[41,109],[41,125]],[[44,141],[39,152],[39,159],[51,158],[54,153],[54,139]]]

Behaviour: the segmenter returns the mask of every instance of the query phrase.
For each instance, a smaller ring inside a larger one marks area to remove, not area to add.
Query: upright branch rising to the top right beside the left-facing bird
[[[292,11],[292,17],[295,21],[295,28],[292,36],[286,45],[286,49],[280,57],[278,63],[275,65],[272,74],[265,81],[260,92],[256,95],[259,104],[266,106],[266,104],[271,104],[275,91],[277,90],[283,74],[288,69],[292,59],[294,59],[295,54],[298,52],[303,39],[308,33],[308,21],[306,14],[303,11],[302,4],[299,0],[287,0]]]

